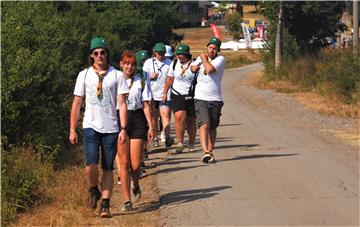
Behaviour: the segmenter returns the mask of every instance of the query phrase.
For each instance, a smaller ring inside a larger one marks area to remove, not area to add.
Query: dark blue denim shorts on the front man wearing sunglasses
[[[98,164],[100,154],[101,168],[107,171],[114,170],[118,135],[118,132],[100,133],[92,128],[84,128],[86,165]],[[99,148],[101,148],[100,152]]]

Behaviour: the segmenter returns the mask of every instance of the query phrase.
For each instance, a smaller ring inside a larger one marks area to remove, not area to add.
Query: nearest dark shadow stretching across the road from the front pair
[[[219,194],[219,191],[229,188],[231,188],[231,186],[218,186],[212,188],[170,192],[160,197],[160,206],[167,204],[186,203],[198,199],[210,198]]]

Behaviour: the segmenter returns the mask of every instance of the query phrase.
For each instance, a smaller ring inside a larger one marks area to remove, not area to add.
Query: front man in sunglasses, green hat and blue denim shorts
[[[84,151],[86,159],[86,177],[89,183],[89,200],[87,208],[95,210],[97,201],[102,197],[100,217],[111,217],[110,197],[113,188],[114,159],[117,143],[124,143],[127,135],[126,94],[129,88],[122,73],[109,65],[109,49],[105,40],[96,37],[90,44],[91,67],[81,71],[77,77],[74,101],[70,115],[71,144],[78,142],[76,133],[80,107],[85,96],[85,113],[83,119]],[[121,130],[117,120],[116,105],[119,105]],[[99,148],[101,146],[101,155]],[[98,188],[98,159],[101,156],[103,174],[101,190]]]

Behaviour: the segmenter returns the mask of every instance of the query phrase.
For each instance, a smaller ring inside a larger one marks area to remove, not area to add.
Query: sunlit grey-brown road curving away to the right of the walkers
[[[196,153],[152,155],[163,160],[160,226],[359,225],[359,147],[328,133],[356,122],[248,85],[260,68],[224,74],[216,164],[200,162],[199,143]]]

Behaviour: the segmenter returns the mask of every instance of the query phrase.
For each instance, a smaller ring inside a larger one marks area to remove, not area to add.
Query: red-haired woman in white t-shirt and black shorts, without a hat
[[[121,189],[125,199],[122,211],[129,211],[132,210],[130,178],[132,181],[131,191],[134,194],[135,200],[139,200],[141,197],[139,176],[142,151],[145,140],[152,140],[154,138],[154,127],[150,109],[151,91],[141,76],[135,73],[136,57],[132,51],[125,51],[123,53],[120,67],[130,90],[127,96],[128,120],[126,127],[129,142],[118,144]]]

